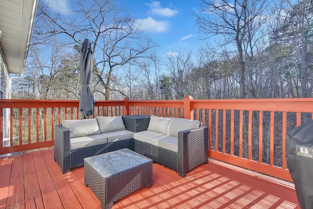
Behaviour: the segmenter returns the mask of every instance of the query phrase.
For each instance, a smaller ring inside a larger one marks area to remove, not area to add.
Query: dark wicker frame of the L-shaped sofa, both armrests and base
[[[153,146],[134,139],[112,142],[105,145],[70,150],[69,129],[62,125],[54,128],[54,160],[67,173],[71,168],[82,166],[84,158],[128,148],[153,161],[178,171],[179,176],[202,163],[208,163],[208,128],[205,126],[180,131],[178,133],[178,152]]]

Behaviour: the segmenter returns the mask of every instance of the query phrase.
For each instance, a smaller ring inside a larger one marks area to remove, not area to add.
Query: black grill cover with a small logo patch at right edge
[[[301,209],[313,209],[313,121],[286,134],[286,160]]]

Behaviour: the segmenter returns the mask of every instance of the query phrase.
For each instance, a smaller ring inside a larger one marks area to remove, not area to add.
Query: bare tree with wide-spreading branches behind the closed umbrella
[[[96,84],[104,87],[110,100],[113,72],[127,63],[150,58],[155,43],[140,30],[135,19],[112,0],[75,0],[68,13],[55,13],[49,5],[39,4],[34,33],[37,40],[57,36],[68,44],[81,44],[88,38],[93,44]],[[38,41],[38,43],[40,43]]]

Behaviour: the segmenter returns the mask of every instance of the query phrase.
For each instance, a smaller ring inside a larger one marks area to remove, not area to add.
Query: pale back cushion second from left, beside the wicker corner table
[[[101,133],[125,130],[125,125],[122,116],[113,116],[113,117],[97,116],[97,120]]]

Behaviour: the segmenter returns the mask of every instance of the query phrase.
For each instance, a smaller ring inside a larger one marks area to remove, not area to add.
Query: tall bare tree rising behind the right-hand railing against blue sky
[[[266,0],[201,0],[201,12],[196,14],[199,30],[205,38],[222,35],[222,46],[235,47],[238,59],[240,97],[246,98],[246,60],[253,57],[256,37],[262,28]]]

